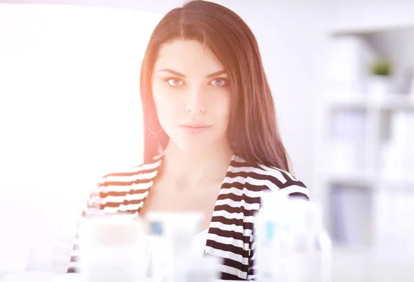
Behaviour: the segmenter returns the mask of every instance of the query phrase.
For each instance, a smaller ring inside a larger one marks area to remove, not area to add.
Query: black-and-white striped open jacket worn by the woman
[[[83,217],[117,212],[139,214],[162,161],[161,154],[150,163],[103,177],[91,193]],[[219,190],[204,248],[205,254],[222,259],[221,279],[255,279],[253,229],[261,194],[269,190],[308,199],[304,183],[290,173],[233,155]],[[78,240],[79,236],[75,239],[68,272],[77,272],[79,267]]]

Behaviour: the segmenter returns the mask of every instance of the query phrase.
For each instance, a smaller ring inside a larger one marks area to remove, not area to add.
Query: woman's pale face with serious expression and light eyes
[[[228,145],[230,86],[209,48],[181,39],[161,46],[152,95],[161,127],[182,150]]]

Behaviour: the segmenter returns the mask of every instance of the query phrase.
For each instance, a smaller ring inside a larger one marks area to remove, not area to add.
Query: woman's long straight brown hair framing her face
[[[141,66],[144,161],[150,161],[168,143],[157,118],[151,79],[161,44],[174,39],[204,43],[228,73],[232,93],[228,143],[233,152],[251,163],[289,171],[255,36],[235,12],[208,1],[190,1],[171,10],[152,32]]]

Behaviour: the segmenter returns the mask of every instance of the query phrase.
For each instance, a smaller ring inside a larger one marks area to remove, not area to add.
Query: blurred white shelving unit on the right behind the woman
[[[361,53],[366,50],[372,51],[373,57],[386,56],[395,62],[393,66],[395,76],[401,75],[407,66],[413,67],[414,70],[414,17],[412,16],[414,2],[397,2],[395,7],[391,7],[393,5],[390,6],[390,3],[380,3],[375,10],[373,4],[364,6],[360,1],[355,3],[341,1],[342,4],[333,9],[333,24],[327,30],[329,43],[335,46],[342,39],[350,39],[344,50],[355,52],[361,48]],[[347,14],[353,14],[352,21],[351,17],[346,16]],[[385,15],[388,15],[386,19]],[[353,41],[357,43],[352,46],[349,42]],[[366,50],[363,50],[364,48]],[[348,62],[344,63],[344,59],[339,65],[348,67],[344,70],[345,72],[348,70],[344,77],[352,80],[357,75],[361,75],[359,82],[362,83],[353,83],[346,88],[343,81],[341,83],[333,81],[340,78],[341,70],[328,70],[330,73],[327,75],[326,92],[321,95],[321,103],[319,103],[322,113],[319,113],[317,119],[319,122],[317,127],[321,130],[315,148],[316,185],[322,191],[320,200],[324,205],[324,220],[333,235],[333,242],[349,247],[366,245],[372,248],[379,238],[377,234],[380,230],[379,226],[385,224],[383,222],[385,219],[379,212],[379,209],[384,206],[379,207],[378,195],[382,194],[381,197],[384,198],[384,193],[392,195],[394,192],[406,192],[410,197],[414,196],[414,161],[411,163],[413,173],[406,167],[405,173],[390,177],[384,173],[386,161],[383,157],[386,142],[390,141],[388,140],[390,132],[397,130],[395,124],[391,122],[391,117],[401,113],[413,113],[414,117],[414,93],[390,92],[383,96],[376,96],[368,92],[364,86],[369,79],[368,61],[373,57],[369,57],[366,53],[360,55],[361,57],[355,57],[355,75],[349,72],[350,65]],[[329,56],[328,61],[332,61],[332,53]],[[343,129],[345,133],[342,132],[340,125],[338,128],[338,119],[346,123]],[[414,123],[414,119],[411,121]],[[414,130],[414,124],[410,126]],[[352,135],[350,133],[352,130],[356,130],[357,133]],[[350,141],[348,144],[339,138],[344,137],[342,135],[345,136],[346,141]],[[355,143],[350,145],[353,141]],[[414,151],[414,139],[413,149],[410,149],[409,143],[406,146],[407,153],[409,150]],[[336,148],[337,152],[343,149],[342,159],[332,161],[335,160],[335,150],[332,148]],[[349,170],[335,169],[336,165],[340,166],[346,161],[352,163],[350,160],[354,159],[357,161],[356,165]],[[346,194],[347,189],[349,194]],[[358,202],[357,199],[362,200]],[[414,197],[412,205],[414,207]],[[336,210],[339,207],[347,210]],[[388,219],[388,221],[392,220],[392,218]],[[338,236],[338,226],[342,223],[344,225],[341,227],[342,231],[348,228],[344,232],[345,237],[349,237],[348,241],[344,236]],[[365,230],[365,233],[360,230]]]

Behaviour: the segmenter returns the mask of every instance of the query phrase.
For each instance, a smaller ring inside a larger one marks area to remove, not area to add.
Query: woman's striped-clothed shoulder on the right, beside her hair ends
[[[244,177],[253,185],[265,186],[268,190],[281,192],[293,197],[309,198],[308,188],[293,174],[270,165],[251,163],[235,156],[230,172],[233,177]]]

